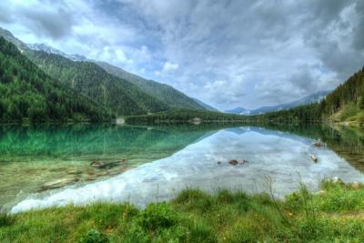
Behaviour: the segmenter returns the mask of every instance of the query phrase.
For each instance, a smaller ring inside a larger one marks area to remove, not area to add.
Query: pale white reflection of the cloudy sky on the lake
[[[321,127],[299,128],[297,135],[276,129],[236,127],[220,130],[198,139],[170,157],[133,168],[116,177],[85,187],[33,195],[20,202],[13,211],[94,200],[127,200],[144,206],[152,201],[174,197],[177,191],[186,187],[205,190],[224,187],[260,192],[268,190],[268,178],[275,181],[275,193],[283,196],[298,188],[298,175],[312,188],[317,188],[323,177],[364,180],[356,167],[330,149],[331,143],[334,144],[332,141],[337,138],[330,140],[325,137],[326,133],[320,134]],[[306,137],[298,136],[302,134]],[[313,138],[321,138],[329,147],[312,147]],[[358,153],[361,153],[360,149]],[[319,163],[314,163],[308,154],[318,157]],[[228,164],[231,159],[248,160],[248,163],[231,166]]]

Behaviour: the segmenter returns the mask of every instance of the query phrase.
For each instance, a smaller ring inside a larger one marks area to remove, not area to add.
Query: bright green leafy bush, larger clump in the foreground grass
[[[149,204],[142,212],[141,225],[145,229],[170,228],[177,223],[177,213],[167,203]]]

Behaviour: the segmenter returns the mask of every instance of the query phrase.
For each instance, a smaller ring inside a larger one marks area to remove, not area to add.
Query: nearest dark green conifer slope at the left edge
[[[110,113],[61,86],[0,37],[0,120],[5,122],[92,121]]]

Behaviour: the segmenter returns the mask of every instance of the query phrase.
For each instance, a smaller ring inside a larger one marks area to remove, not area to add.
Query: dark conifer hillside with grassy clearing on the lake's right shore
[[[364,124],[364,68],[339,85],[319,103],[250,116],[252,120],[352,122]]]

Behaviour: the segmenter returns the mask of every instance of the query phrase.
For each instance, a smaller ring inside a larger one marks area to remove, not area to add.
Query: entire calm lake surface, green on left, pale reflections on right
[[[277,197],[325,177],[364,182],[362,131],[330,127],[1,127],[0,204],[140,207],[194,187]],[[320,139],[326,147],[314,147]],[[319,159],[315,163],[309,155]],[[232,166],[228,161],[240,163]],[[92,165],[92,162],[95,163]]]

